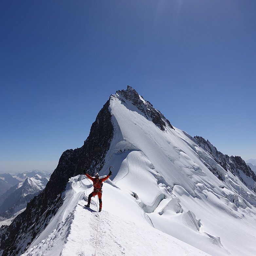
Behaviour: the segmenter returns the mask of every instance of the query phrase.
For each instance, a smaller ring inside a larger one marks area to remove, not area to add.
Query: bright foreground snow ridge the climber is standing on
[[[104,184],[105,210],[96,211],[96,197],[86,209],[92,185],[81,177],[70,179],[63,206],[22,256],[209,255],[154,229],[135,198],[111,182]]]

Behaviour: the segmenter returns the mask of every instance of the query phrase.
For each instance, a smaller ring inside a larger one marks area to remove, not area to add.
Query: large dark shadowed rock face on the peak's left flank
[[[113,137],[108,107],[109,101],[92,124],[84,145],[79,149],[66,150],[62,154],[43,192],[27,204],[27,209],[19,214],[10,226],[0,229],[0,255],[20,255],[45,229],[63,203],[62,192],[70,177],[82,174],[84,168],[91,173],[101,170]]]

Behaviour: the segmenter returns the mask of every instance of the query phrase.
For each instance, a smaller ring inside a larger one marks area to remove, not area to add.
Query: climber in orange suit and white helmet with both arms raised
[[[112,167],[112,166],[110,166]],[[99,211],[101,211],[101,208],[102,208],[102,201],[101,201],[101,196],[102,196],[102,185],[103,185],[103,181],[107,180],[110,175],[112,175],[112,172],[110,171],[110,167],[109,167],[109,174],[105,177],[105,178],[101,178],[99,179],[99,174],[96,173],[95,174],[95,178],[94,177],[91,177],[89,174],[86,173],[86,171],[84,170],[84,174],[86,175],[86,177],[90,180],[92,180],[93,182],[93,192],[91,192],[88,196],[88,203],[85,207],[90,207],[90,203],[91,203],[91,198],[92,196],[95,196],[95,195],[98,195],[99,197],[99,202],[100,202],[100,209]]]

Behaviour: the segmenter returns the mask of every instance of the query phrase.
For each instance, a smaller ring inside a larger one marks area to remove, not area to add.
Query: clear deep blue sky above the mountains
[[[129,84],[177,128],[256,158],[256,1],[1,1],[0,172],[50,170]]]

